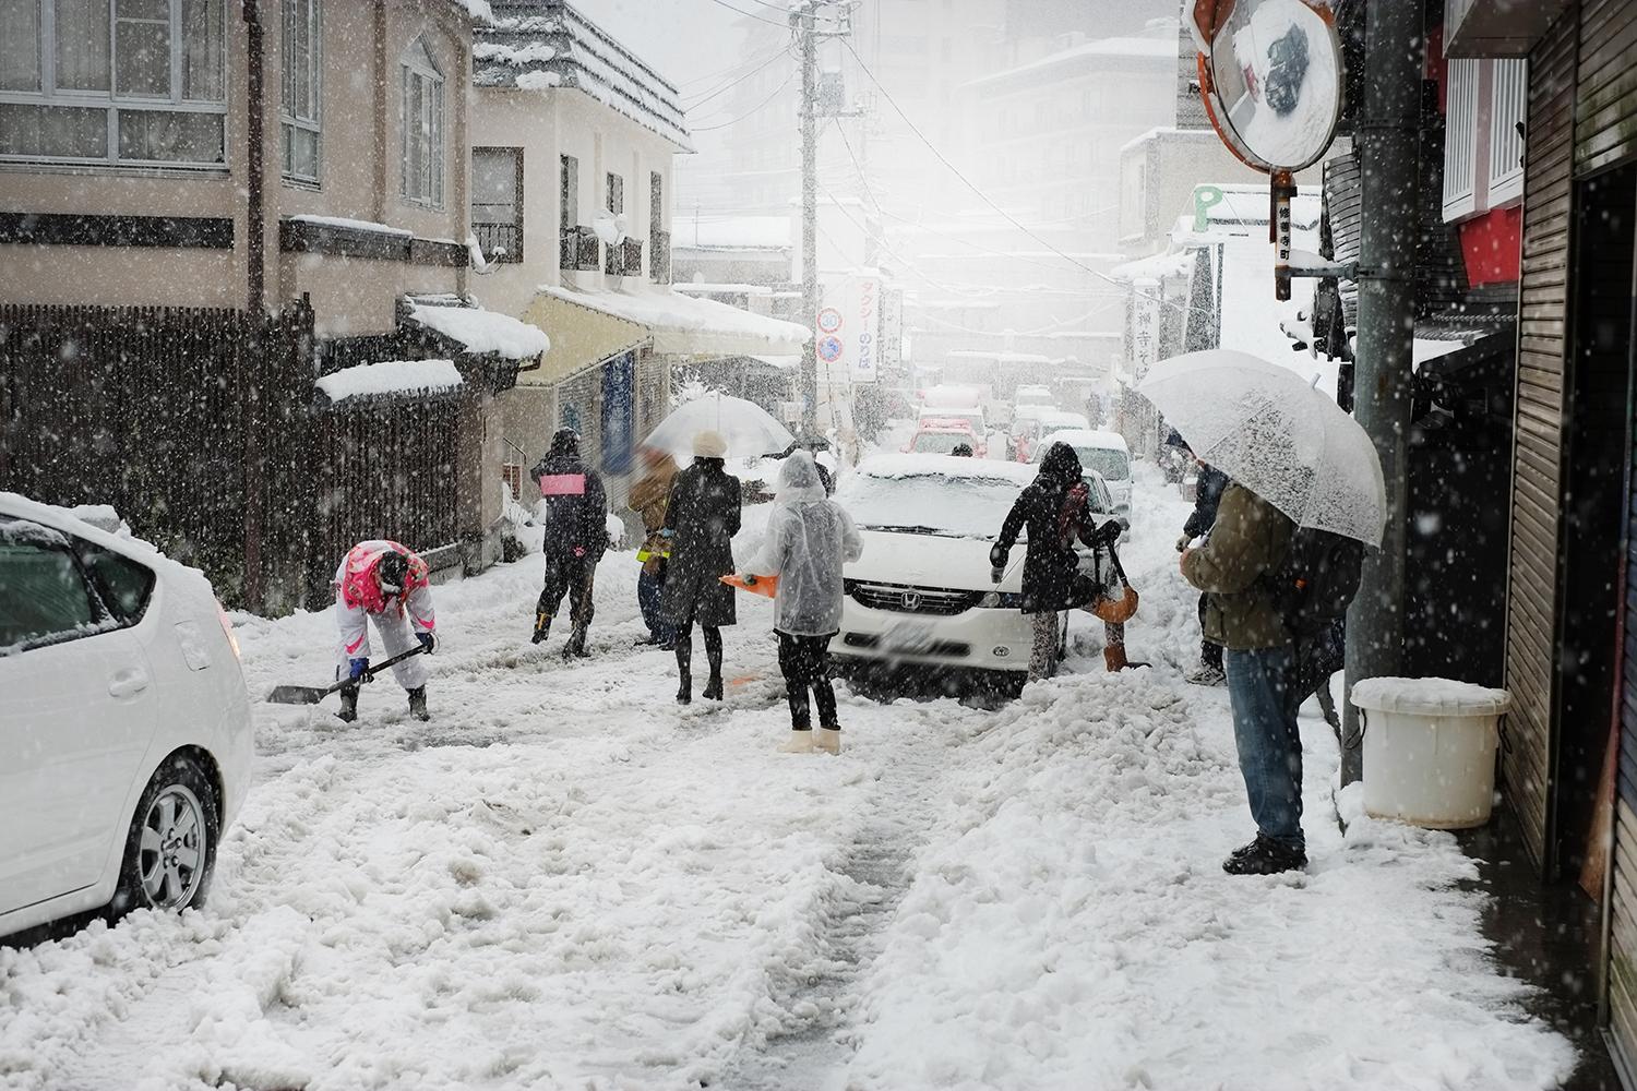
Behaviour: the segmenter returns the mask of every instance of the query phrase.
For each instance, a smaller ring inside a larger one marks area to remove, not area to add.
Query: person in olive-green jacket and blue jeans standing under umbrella
[[[1295,649],[1269,577],[1290,551],[1295,523],[1239,483],[1223,492],[1205,545],[1182,553],[1182,576],[1205,592],[1205,640],[1223,646],[1234,744],[1256,839],[1223,870],[1272,875],[1308,864],[1301,834],[1301,736]]]

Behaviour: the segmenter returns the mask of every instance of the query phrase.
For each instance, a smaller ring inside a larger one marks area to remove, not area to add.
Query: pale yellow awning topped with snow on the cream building
[[[552,350],[525,384],[561,379],[652,345],[653,352],[704,360],[720,357],[787,357],[807,343],[807,329],[751,314],[714,299],[694,299],[670,288],[576,291],[540,285],[527,319],[552,330]]]

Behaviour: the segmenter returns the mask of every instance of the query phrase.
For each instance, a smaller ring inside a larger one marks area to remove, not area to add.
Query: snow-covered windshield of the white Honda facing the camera
[[[994,538],[1023,486],[1005,478],[856,473],[837,501],[864,530]]]

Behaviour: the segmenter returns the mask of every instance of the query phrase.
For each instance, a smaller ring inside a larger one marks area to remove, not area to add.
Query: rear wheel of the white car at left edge
[[[205,903],[216,867],[221,801],[187,754],[167,757],[142,790],[120,860],[110,919],[133,909],[180,913]]]

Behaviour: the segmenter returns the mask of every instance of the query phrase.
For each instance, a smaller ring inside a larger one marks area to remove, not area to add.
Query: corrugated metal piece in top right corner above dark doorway
[[[1575,88],[1575,173],[1637,155],[1637,3],[1586,0]]]

